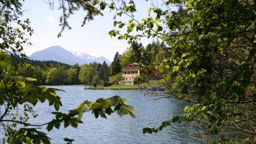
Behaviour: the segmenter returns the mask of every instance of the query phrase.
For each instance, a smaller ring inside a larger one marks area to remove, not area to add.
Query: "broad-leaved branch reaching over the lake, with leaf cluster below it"
[[[48,131],[53,130],[53,128],[60,128],[60,125],[63,123],[64,128],[68,126],[73,126],[77,128],[79,123],[83,123],[81,121],[84,112],[92,111],[92,114],[97,118],[99,115],[105,119],[107,119],[107,115],[110,115],[114,112],[117,112],[120,117],[123,115],[131,115],[134,116],[135,108],[133,106],[129,106],[124,104],[125,101],[130,101],[130,99],[123,99],[119,96],[110,97],[109,99],[97,99],[96,102],[84,101],[81,103],[76,109],[70,110],[68,114],[64,114],[62,112],[52,112],[55,115],[55,119],[48,123],[44,123],[42,125],[31,125],[29,123],[25,124],[27,126],[44,126],[47,125],[46,129]],[[114,107],[114,110],[112,110]],[[77,117],[76,117],[77,116]],[[24,124],[24,123],[23,123]],[[25,133],[25,135],[24,135]],[[11,142],[15,141],[15,143],[29,143],[29,141],[33,141],[33,143],[49,143],[49,138],[43,132],[36,130],[35,128],[21,128],[16,132],[16,134],[12,137]]]

